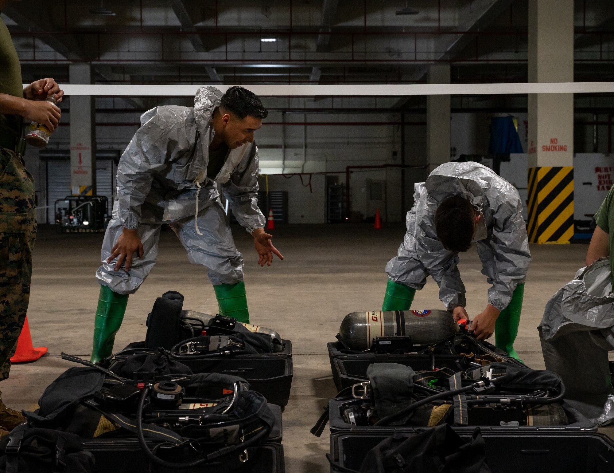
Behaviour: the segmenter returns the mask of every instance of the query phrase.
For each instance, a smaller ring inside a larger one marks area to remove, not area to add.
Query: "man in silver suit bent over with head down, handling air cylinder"
[[[416,289],[431,275],[454,319],[468,320],[458,253],[475,243],[492,287],[469,330],[480,340],[494,332],[495,345],[518,358],[513,345],[531,259],[518,190],[481,164],[445,163],[416,184],[414,200],[405,239],[386,265],[382,310],[409,310]]]

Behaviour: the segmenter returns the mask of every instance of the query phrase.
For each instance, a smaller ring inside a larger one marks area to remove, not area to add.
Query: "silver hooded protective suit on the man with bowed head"
[[[494,171],[478,163],[445,163],[426,182],[415,186],[414,206],[407,213],[407,232],[398,254],[386,265],[395,283],[422,289],[427,276],[439,285],[439,298],[449,309],[465,306],[465,286],[457,268],[459,257],[443,248],[435,231],[435,211],[453,195],[468,198],[484,216],[485,238],[476,241],[482,273],[492,287],[488,302],[499,310],[524,283],[531,260],[529,240],[518,190]]]

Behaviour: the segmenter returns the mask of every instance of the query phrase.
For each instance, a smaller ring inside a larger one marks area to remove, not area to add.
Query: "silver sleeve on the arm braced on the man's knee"
[[[141,205],[149,193],[154,173],[163,173],[169,160],[190,149],[188,133],[193,120],[185,107],[156,107],[141,116],[141,128],[134,133],[117,166],[119,220],[126,229],[141,222]]]

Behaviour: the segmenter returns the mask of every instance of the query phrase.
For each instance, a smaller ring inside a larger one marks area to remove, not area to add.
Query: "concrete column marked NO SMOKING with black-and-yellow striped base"
[[[529,82],[573,82],[573,0],[529,2]],[[529,241],[573,236],[573,94],[529,95]]]

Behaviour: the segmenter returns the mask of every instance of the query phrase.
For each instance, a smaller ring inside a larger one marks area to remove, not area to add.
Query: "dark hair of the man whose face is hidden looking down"
[[[448,251],[467,251],[473,240],[474,226],[475,209],[460,195],[443,200],[435,212],[437,238]]]

